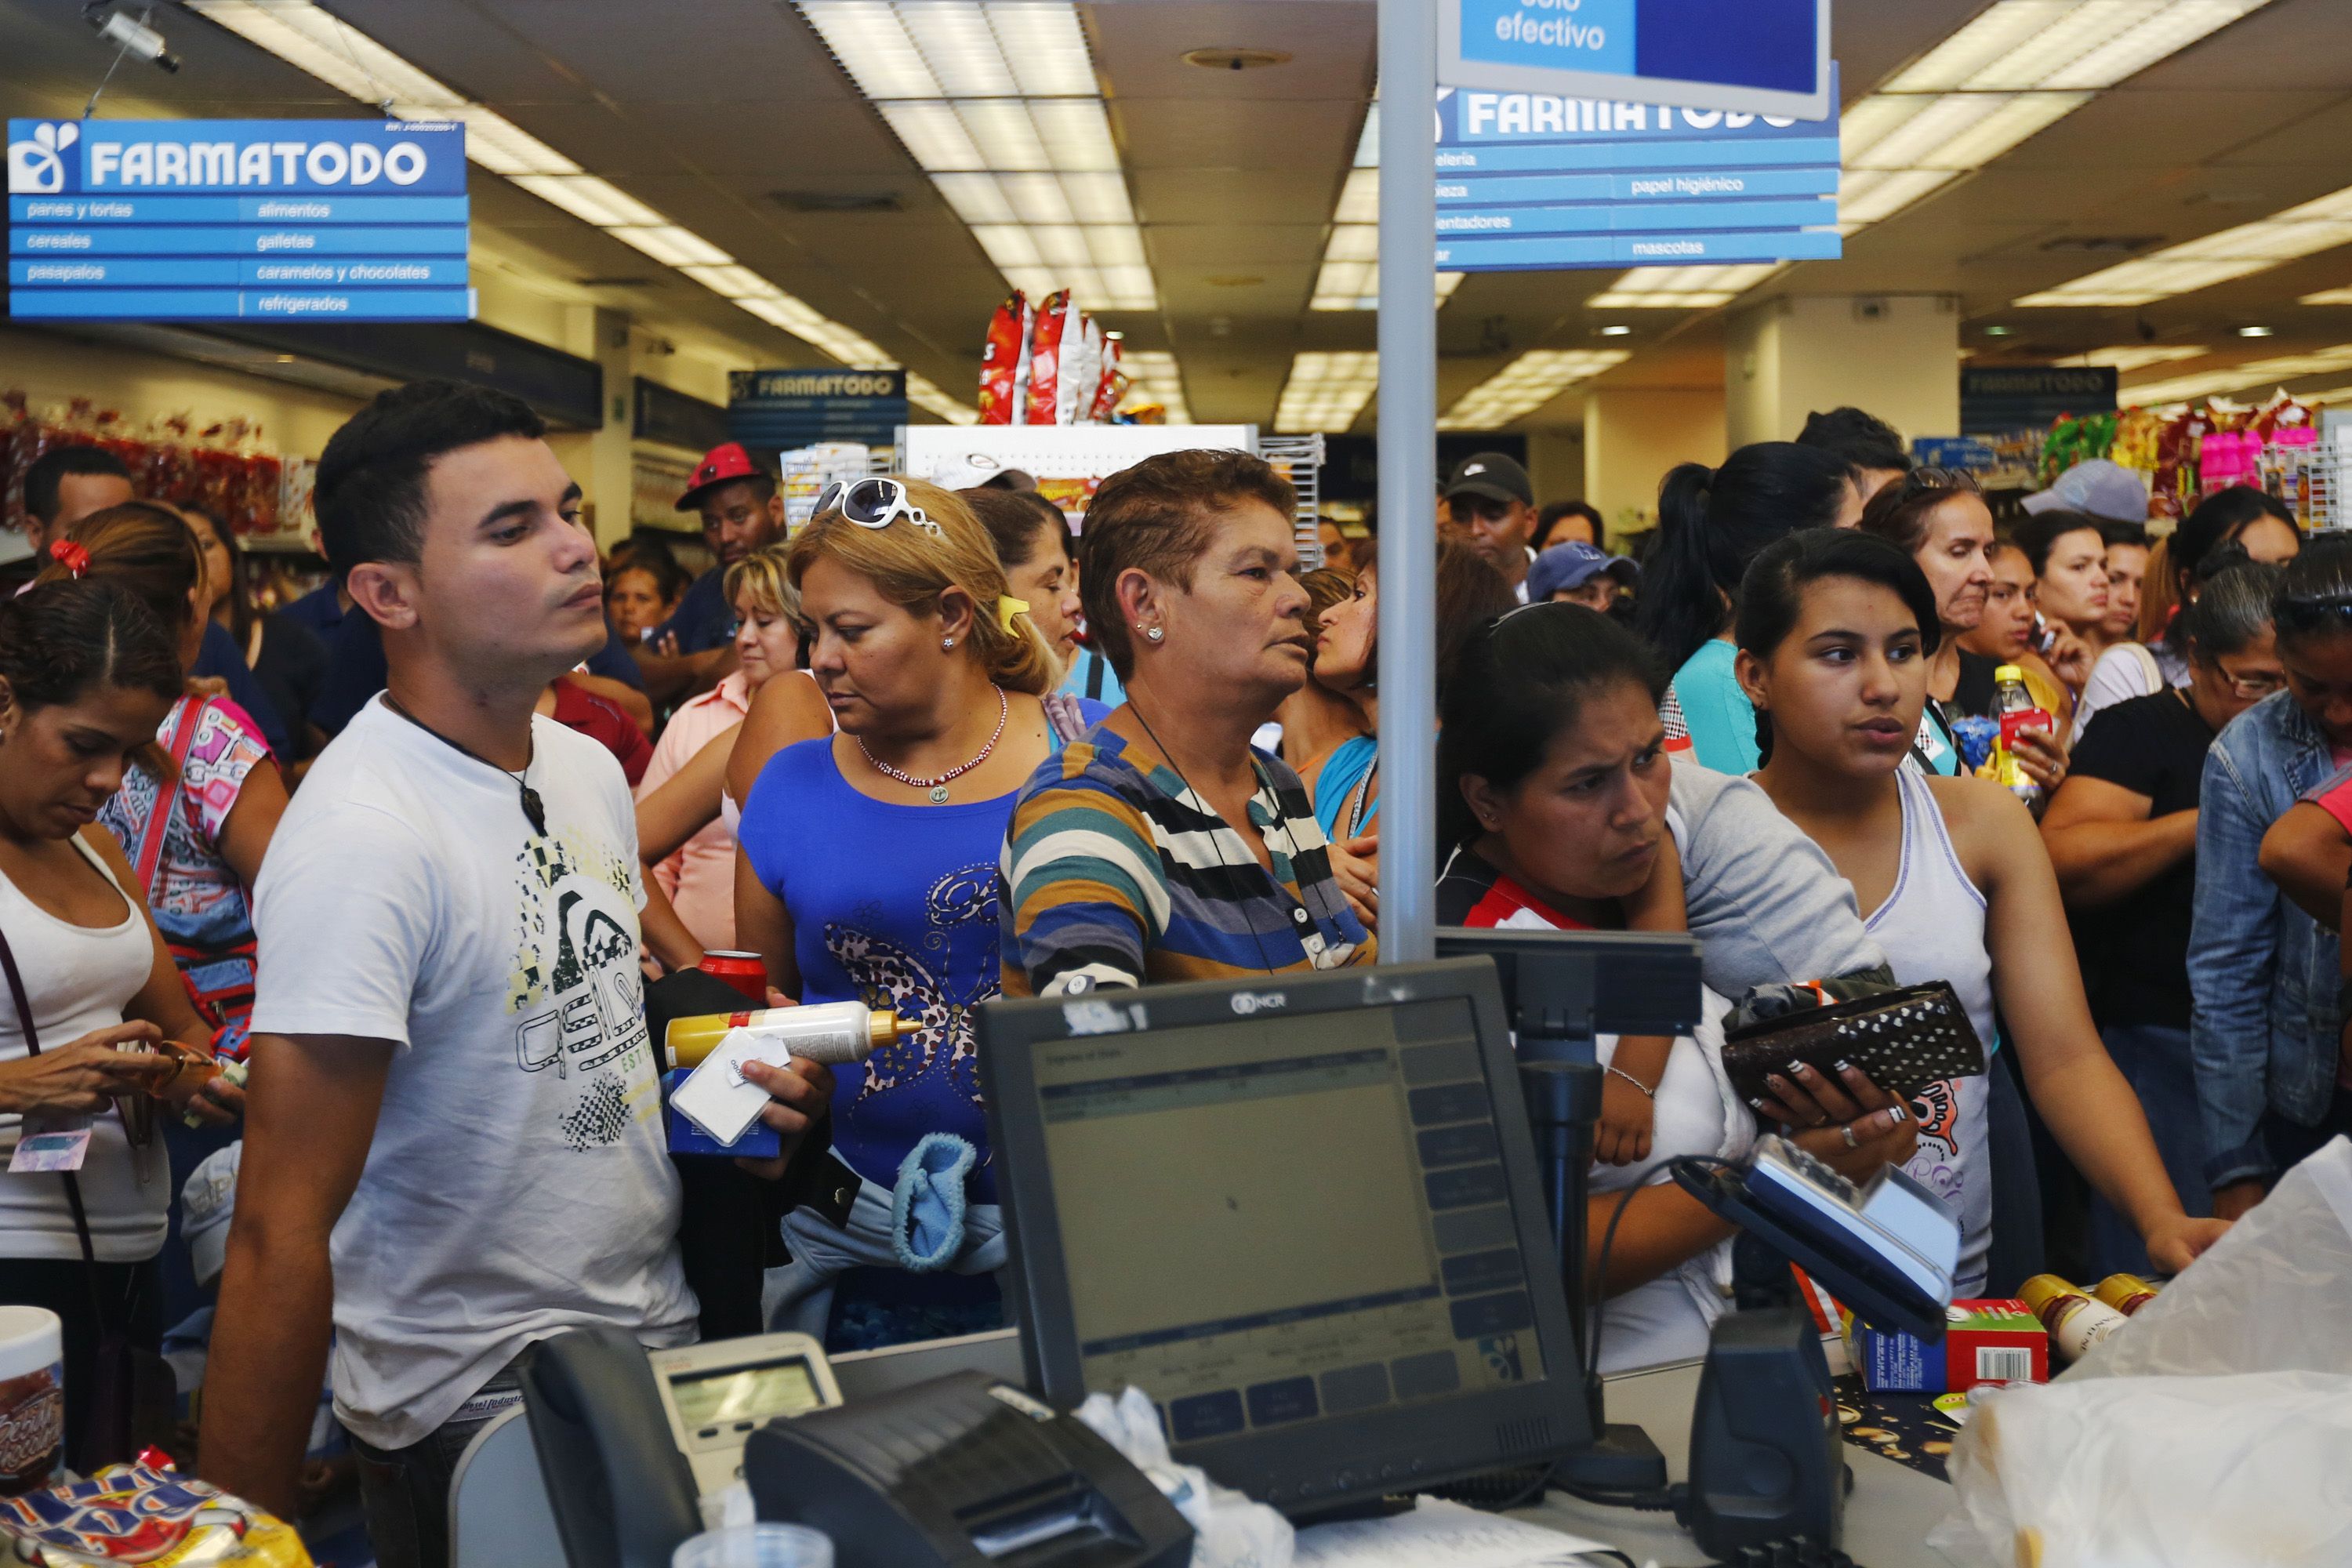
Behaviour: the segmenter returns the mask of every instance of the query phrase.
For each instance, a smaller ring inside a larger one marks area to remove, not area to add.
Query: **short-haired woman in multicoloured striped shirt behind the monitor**
[[[1289,480],[1171,451],[1087,508],[1080,592],[1127,703],[1004,837],[1004,994],[1369,964],[1298,776],[1249,736],[1308,675]]]

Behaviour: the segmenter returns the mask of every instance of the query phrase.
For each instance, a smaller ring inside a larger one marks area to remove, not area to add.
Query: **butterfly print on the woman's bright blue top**
[[[953,961],[950,926],[997,924],[997,867],[964,865],[948,872],[931,884],[922,912],[929,957]],[[978,1105],[981,1070],[971,1009],[997,994],[995,964],[988,964],[985,973],[957,976],[950,969],[934,976],[922,957],[889,938],[837,922],[826,924],[826,950],[866,1006],[898,1013],[915,1025],[913,1034],[901,1034],[868,1058],[856,1103],[908,1086],[943,1065],[955,1093]]]

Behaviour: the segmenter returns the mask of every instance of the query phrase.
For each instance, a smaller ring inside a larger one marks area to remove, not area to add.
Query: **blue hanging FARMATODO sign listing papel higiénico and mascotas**
[[[1830,73],[1835,89],[1835,68]],[[1835,103],[1835,101],[1832,101]],[[1835,261],[1837,118],[1439,89],[1437,266]]]

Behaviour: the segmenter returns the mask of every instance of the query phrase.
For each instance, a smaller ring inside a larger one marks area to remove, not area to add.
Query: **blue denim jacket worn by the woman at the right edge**
[[[2213,741],[2197,802],[2197,907],[2190,929],[2190,1053],[2204,1112],[2206,1180],[2270,1180],[2270,1107],[2312,1126],[2336,1093],[2333,931],[2263,875],[2263,832],[2336,766],[2293,693],[2263,698]]]

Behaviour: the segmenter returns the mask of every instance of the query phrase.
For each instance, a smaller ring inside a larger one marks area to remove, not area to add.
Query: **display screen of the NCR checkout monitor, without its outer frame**
[[[1037,1053],[1087,1387],[1174,1441],[1543,1378],[1461,999]]]

